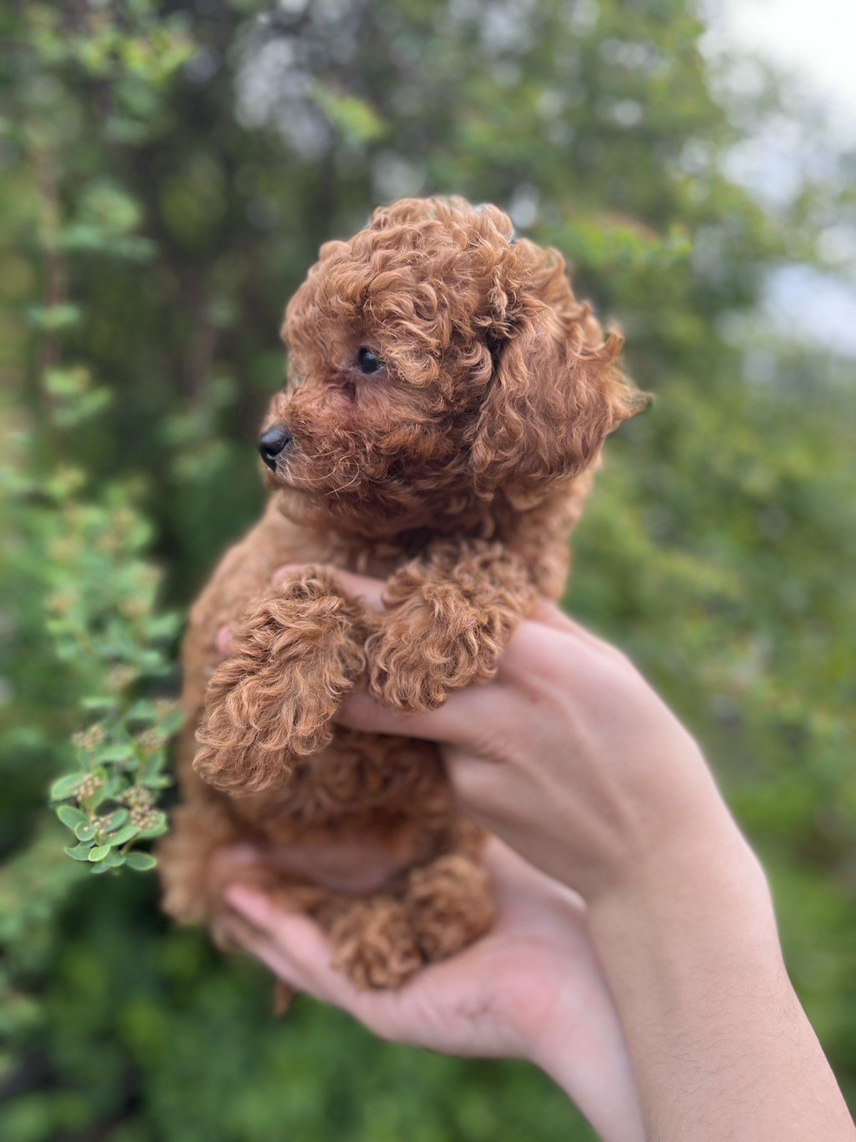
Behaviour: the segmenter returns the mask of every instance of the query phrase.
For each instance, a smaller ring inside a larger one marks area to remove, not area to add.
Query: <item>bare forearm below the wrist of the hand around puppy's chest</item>
[[[856,1136],[782,960],[742,838],[656,861],[592,902],[646,1136],[843,1142]]]

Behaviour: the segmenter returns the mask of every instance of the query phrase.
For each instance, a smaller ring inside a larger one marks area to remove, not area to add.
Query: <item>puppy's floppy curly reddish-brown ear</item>
[[[644,405],[615,363],[623,339],[603,340],[588,308],[578,312],[568,324],[548,304],[527,306],[491,345],[493,376],[470,448],[479,496],[490,499],[502,486],[525,497],[575,475]]]

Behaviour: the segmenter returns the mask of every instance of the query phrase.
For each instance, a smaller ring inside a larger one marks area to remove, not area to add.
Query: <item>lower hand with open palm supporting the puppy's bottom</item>
[[[229,859],[228,851],[218,858],[227,879]],[[235,874],[247,859],[232,856]],[[445,1054],[530,1060],[564,1087],[601,1137],[643,1139],[627,1048],[582,901],[495,839],[485,863],[496,903],[491,932],[397,990],[357,990],[330,966],[317,925],[258,890],[227,888],[234,912],[224,923],[281,980],[383,1038]]]

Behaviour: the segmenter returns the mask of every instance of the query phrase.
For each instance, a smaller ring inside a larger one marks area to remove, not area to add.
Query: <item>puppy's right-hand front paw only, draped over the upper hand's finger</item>
[[[436,709],[450,691],[492,677],[503,643],[494,617],[453,586],[433,586],[396,606],[369,638],[369,689],[393,709]]]

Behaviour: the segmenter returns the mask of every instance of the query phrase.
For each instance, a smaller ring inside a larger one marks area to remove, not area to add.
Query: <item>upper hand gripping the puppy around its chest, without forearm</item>
[[[382,610],[381,580],[337,578]],[[680,722],[623,654],[550,603],[519,624],[488,683],[427,714],[357,692],[337,721],[439,742],[468,814],[587,900],[641,884],[652,866],[651,880],[689,860],[754,866]]]

